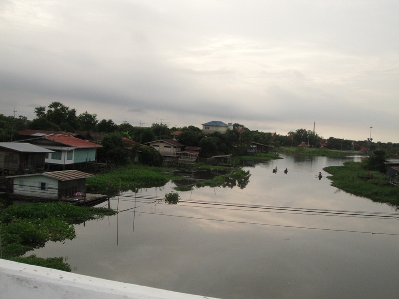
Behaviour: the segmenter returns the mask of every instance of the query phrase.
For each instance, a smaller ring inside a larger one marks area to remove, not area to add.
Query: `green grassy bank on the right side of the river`
[[[369,175],[369,171],[362,168],[360,162],[348,161],[343,166],[328,166],[324,170],[332,174],[329,176],[332,185],[345,192],[376,202],[399,205],[399,187],[389,184],[389,178],[378,171],[370,171],[371,179],[358,177]]]

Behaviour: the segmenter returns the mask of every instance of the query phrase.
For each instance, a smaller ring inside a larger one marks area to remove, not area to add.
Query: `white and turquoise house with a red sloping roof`
[[[54,152],[46,156],[45,163],[62,166],[63,170],[73,169],[76,163],[95,161],[97,149],[102,148],[100,145],[66,136],[46,136],[24,142],[53,150]]]

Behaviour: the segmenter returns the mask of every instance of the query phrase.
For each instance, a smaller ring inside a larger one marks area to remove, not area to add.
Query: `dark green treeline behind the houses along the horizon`
[[[62,131],[62,132],[93,132],[102,133],[105,136],[101,140],[103,149],[99,150],[98,157],[101,160],[112,160],[115,163],[125,163],[123,157],[129,152],[121,137],[126,137],[140,144],[159,140],[170,139],[171,133],[182,132],[177,141],[186,146],[198,146],[201,148],[202,157],[210,157],[217,154],[242,155],[252,142],[268,145],[274,149],[280,147],[297,148],[301,143],[309,145],[310,148],[321,147],[320,141],[324,140],[328,149],[337,150],[361,150],[361,149],[384,149],[392,154],[398,154],[399,144],[392,143],[368,143],[367,140],[352,141],[334,137],[323,138],[312,130],[298,129],[288,132],[286,135],[272,134],[250,130],[241,124],[233,124],[232,130],[225,134],[215,132],[204,135],[202,130],[196,126],[172,127],[167,124],[153,123],[149,127],[134,126],[128,122],[115,124],[112,120],[98,120],[96,114],[85,111],[77,114],[76,109],[67,107],[60,102],[52,102],[46,107],[34,108],[36,118],[28,120],[24,116],[18,118],[0,115],[0,142],[10,142],[18,139],[18,132],[23,129]],[[137,123],[138,124],[138,123]],[[131,153],[134,155],[134,153]],[[159,158],[154,152],[146,152],[144,163],[159,165]]]

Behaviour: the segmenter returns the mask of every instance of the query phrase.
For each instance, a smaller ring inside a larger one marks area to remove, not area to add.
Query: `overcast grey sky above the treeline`
[[[58,101],[115,124],[398,143],[398,15],[398,0],[0,0],[0,113]]]

